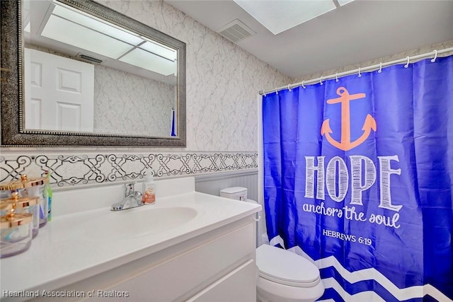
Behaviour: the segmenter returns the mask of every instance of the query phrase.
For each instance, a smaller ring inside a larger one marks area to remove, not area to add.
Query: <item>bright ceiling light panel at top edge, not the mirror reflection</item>
[[[353,0],[234,0],[274,35]]]

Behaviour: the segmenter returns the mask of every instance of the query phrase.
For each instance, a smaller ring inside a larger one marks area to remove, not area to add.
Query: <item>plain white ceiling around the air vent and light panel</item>
[[[453,40],[453,0],[355,0],[277,35],[233,0],[166,2],[214,31],[239,19],[256,35],[236,44],[293,79]]]

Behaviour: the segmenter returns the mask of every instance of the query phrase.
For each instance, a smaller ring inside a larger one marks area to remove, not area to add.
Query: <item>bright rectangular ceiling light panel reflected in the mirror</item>
[[[165,76],[176,73],[176,50],[56,1],[41,35]]]

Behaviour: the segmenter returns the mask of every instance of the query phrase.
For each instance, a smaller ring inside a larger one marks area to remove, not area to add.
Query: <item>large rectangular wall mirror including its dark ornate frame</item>
[[[185,146],[185,43],[91,0],[1,1],[4,146]]]

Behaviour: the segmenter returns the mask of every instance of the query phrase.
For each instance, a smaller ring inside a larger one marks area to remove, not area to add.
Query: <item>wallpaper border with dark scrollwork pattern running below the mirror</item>
[[[151,169],[154,177],[194,175],[258,168],[258,153],[151,153],[151,154],[38,154],[0,156],[0,182],[41,177],[51,171],[57,187],[140,181]]]

